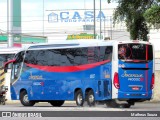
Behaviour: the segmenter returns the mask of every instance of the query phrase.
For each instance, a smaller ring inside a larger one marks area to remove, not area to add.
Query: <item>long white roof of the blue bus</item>
[[[76,48],[76,47],[89,47],[89,46],[108,46],[114,44],[126,44],[126,43],[141,43],[141,44],[151,44],[145,41],[138,41],[138,40],[124,40],[124,41],[117,41],[117,40],[95,40],[95,39],[83,39],[83,40],[53,40],[53,42],[49,43],[41,43],[41,44],[34,44],[27,47],[26,50],[33,50],[33,49],[51,49],[51,48]]]

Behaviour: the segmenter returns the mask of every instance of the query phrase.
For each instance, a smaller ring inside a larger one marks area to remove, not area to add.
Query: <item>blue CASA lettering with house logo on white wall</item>
[[[105,16],[103,11],[96,13],[96,22],[109,21],[110,16]],[[93,11],[62,11],[51,12],[48,15],[48,22],[94,22]]]

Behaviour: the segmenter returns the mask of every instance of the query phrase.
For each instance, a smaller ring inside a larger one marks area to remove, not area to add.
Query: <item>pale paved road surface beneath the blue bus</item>
[[[136,103],[131,108],[109,108],[106,105],[77,107],[75,102],[65,102],[61,107],[53,107],[49,103],[36,103],[33,107],[24,107],[19,102],[0,105],[0,111],[160,111],[160,102]]]

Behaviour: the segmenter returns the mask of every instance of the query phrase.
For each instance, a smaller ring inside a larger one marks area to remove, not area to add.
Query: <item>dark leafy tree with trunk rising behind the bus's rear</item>
[[[148,27],[144,18],[145,11],[151,7],[154,0],[108,0],[118,2],[113,15],[113,22],[125,21],[131,39],[147,41]]]

